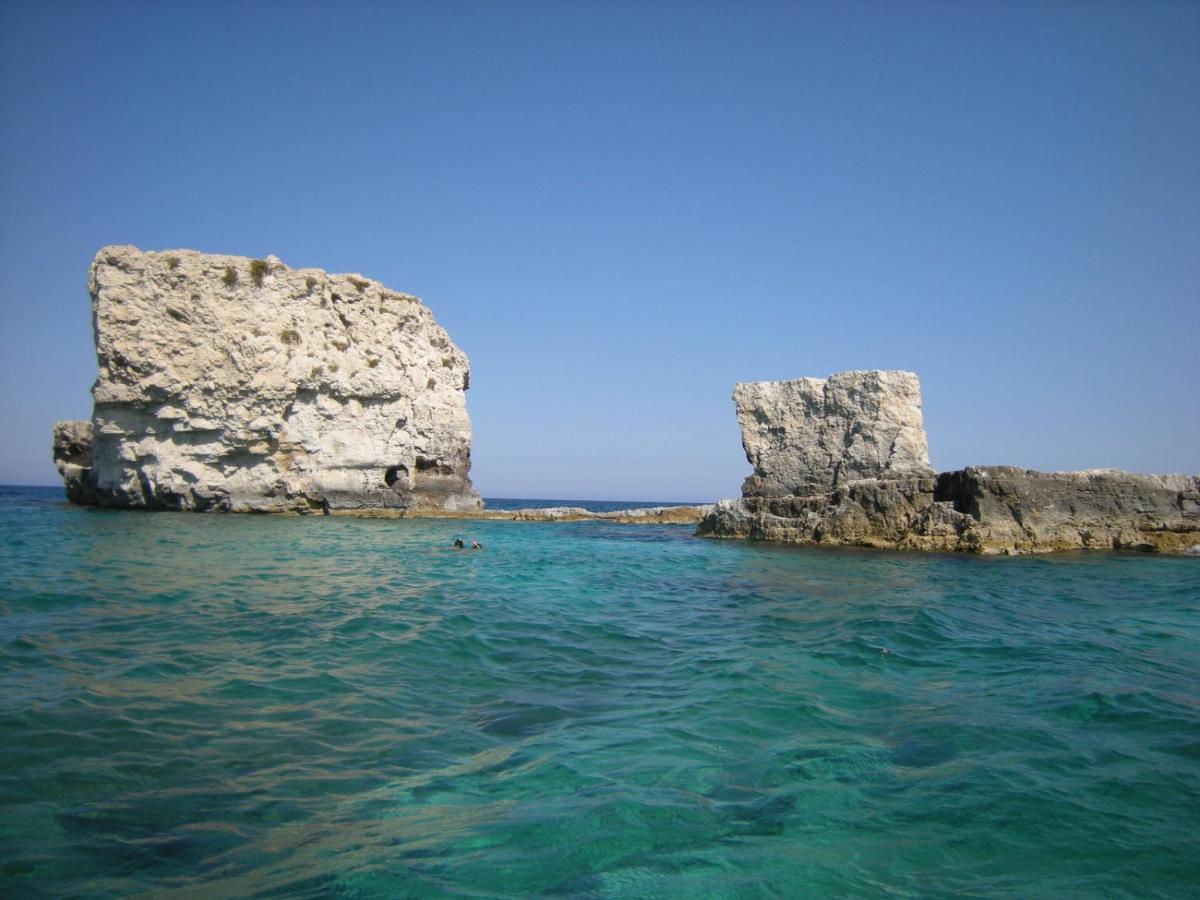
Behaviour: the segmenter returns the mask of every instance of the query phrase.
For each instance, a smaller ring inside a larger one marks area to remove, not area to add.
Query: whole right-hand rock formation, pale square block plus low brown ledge
[[[763,402],[764,397],[772,402]],[[1200,476],[972,467],[934,475],[908,372],[738,385],[743,497],[700,534],[972,553],[1200,552]]]

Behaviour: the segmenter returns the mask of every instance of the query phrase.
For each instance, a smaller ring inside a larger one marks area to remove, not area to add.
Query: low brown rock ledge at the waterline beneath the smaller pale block
[[[868,479],[809,497],[721,500],[713,538],[968,553],[1141,550],[1200,545],[1200,479],[1186,475],[968,468]]]

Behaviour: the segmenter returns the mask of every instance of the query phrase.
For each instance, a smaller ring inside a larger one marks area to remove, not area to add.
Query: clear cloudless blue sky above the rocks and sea
[[[734,382],[907,368],[935,467],[1200,470],[1200,4],[0,5],[0,482],[106,244],[360,271],[484,496],[712,499]]]

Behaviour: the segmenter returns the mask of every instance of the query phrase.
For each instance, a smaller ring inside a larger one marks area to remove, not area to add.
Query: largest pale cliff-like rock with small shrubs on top
[[[128,246],[100,251],[89,289],[100,504],[481,506],[467,356],[416,298],[274,257]]]

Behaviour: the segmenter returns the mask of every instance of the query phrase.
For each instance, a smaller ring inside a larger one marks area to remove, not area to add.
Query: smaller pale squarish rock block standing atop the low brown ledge
[[[863,479],[928,476],[920,382],[912,372],[840,372],[733,388],[745,497],[810,496]]]

